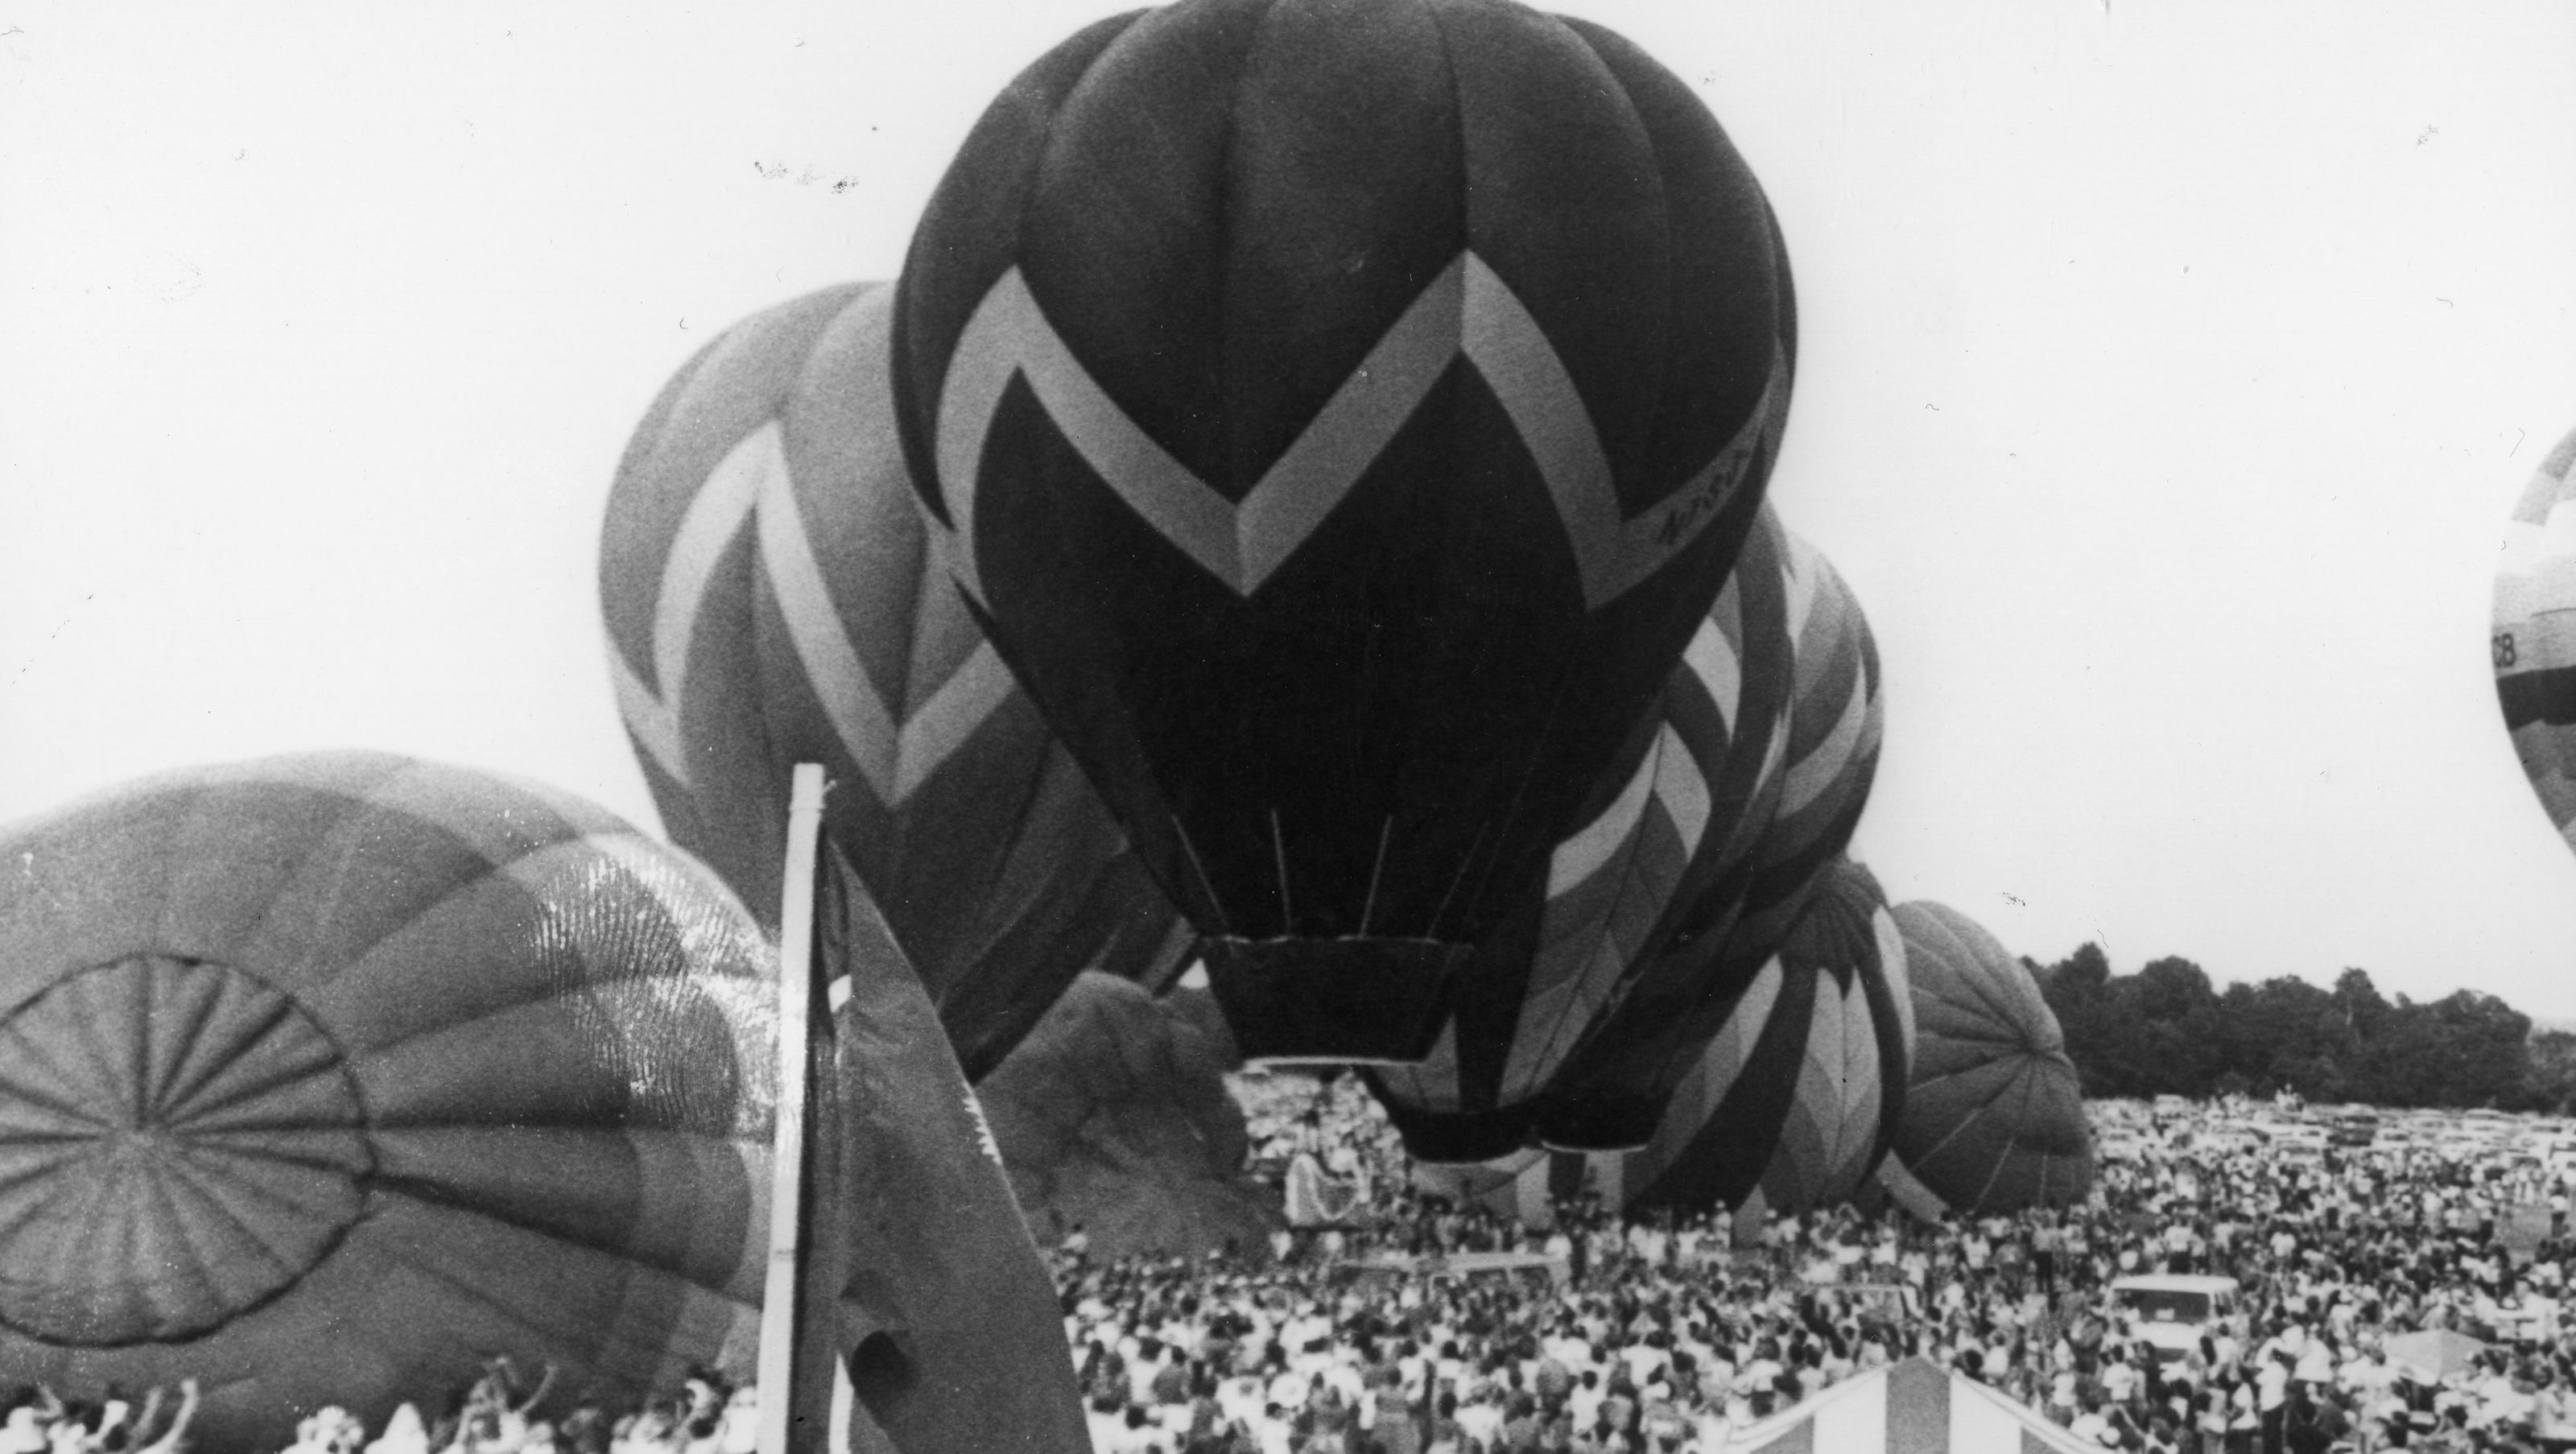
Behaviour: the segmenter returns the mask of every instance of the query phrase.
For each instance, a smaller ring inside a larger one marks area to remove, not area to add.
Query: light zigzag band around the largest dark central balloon
[[[1461,253],[1244,500],[1231,503],[1108,397],[1012,268],[966,320],[940,384],[935,454],[940,498],[956,523],[951,567],[984,601],[974,508],[984,441],[1012,379],[1028,382],[1064,441],[1141,521],[1236,596],[1252,596],[1350,495],[1461,353],[1502,400],[1548,482],[1587,608],[1615,601],[1700,539],[1752,472],[1788,389],[1788,358],[1775,348],[1770,382],[1744,428],[1672,498],[1628,521],[1610,456],[1564,358],[1512,289],[1481,258]]]

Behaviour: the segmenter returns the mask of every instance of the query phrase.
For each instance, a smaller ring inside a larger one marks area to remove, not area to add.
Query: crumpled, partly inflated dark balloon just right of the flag
[[[1244,1178],[1231,1047],[1182,1005],[1084,972],[976,1088],[1041,1240],[1082,1230],[1097,1255],[1262,1248],[1278,1196]]]

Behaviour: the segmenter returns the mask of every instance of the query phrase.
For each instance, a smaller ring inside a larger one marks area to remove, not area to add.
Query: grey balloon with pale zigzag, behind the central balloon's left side
[[[1084,967],[1157,977],[1180,915],[933,562],[894,438],[884,284],[708,343],[636,425],[600,603],[662,825],[778,913],[788,771],[969,1078]]]

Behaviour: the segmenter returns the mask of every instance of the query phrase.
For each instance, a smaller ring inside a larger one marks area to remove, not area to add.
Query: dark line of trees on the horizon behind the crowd
[[[2112,974],[2102,946],[2030,964],[2087,1096],[2272,1096],[2576,1114],[2576,1034],[2478,990],[2380,995],[2362,969],[2210,985],[2190,959]]]

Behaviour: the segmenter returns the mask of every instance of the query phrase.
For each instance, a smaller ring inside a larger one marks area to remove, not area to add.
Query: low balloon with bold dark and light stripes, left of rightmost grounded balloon
[[[1904,1111],[1914,1011],[1878,879],[1850,858],[1821,879],[1643,1147],[1528,1150],[1440,1170],[1432,1186],[1530,1222],[1577,1191],[1618,1209],[1690,1212],[1757,1199],[1801,1212],[1860,1191]]]

